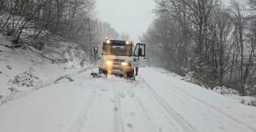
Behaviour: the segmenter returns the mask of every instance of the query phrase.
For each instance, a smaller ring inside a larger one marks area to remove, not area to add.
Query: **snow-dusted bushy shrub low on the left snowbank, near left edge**
[[[13,83],[16,83],[18,86],[33,86],[34,79],[38,79],[38,77],[34,76],[33,72],[34,70],[30,68],[29,71],[23,72],[15,76]]]

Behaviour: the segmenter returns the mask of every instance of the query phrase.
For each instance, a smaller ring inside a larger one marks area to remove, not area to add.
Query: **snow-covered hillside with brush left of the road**
[[[91,69],[77,44],[52,39],[56,37],[50,37],[51,44],[43,50],[12,49],[12,37],[0,33],[0,105],[59,80],[72,81],[70,76]]]

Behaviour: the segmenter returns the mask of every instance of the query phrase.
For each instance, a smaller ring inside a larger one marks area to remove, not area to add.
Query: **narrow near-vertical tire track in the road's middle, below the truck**
[[[121,116],[119,93],[114,93],[113,96],[114,96],[114,103],[113,103],[113,115],[114,115],[113,130],[114,130],[114,132],[124,132],[123,123],[122,123],[122,116]]]

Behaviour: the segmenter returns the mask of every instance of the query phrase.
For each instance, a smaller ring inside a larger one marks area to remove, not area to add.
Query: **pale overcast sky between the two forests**
[[[97,18],[119,33],[128,33],[134,43],[154,20],[153,9],[154,0],[96,0]]]

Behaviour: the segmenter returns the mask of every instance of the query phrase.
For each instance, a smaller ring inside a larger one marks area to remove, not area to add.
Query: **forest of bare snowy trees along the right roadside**
[[[148,64],[256,95],[256,1],[155,0]]]

